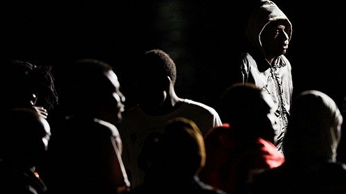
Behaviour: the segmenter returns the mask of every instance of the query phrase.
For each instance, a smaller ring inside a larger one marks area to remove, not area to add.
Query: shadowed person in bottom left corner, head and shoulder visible
[[[0,118],[0,193],[47,193],[35,167],[44,160],[48,122],[33,109],[12,109]]]

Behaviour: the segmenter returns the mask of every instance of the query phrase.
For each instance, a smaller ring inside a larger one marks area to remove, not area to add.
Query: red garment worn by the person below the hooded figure
[[[210,130],[205,143],[207,161],[200,178],[226,193],[245,193],[253,175],[284,163],[284,155],[273,143],[237,137],[230,125]]]

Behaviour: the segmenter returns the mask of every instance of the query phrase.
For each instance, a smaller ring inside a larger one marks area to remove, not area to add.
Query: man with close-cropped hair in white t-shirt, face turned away
[[[162,133],[170,118],[188,118],[205,134],[221,125],[219,114],[208,105],[176,96],[176,66],[164,51],[147,51],[140,60],[137,80],[138,106],[128,109],[120,125],[124,142],[124,162],[131,173],[131,185],[143,183],[144,172],[138,168],[138,155],[151,133]]]

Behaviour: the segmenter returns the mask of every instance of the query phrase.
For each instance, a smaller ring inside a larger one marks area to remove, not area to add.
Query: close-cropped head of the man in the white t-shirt
[[[145,52],[138,67],[138,103],[158,107],[174,88],[176,66],[170,56],[159,49]]]

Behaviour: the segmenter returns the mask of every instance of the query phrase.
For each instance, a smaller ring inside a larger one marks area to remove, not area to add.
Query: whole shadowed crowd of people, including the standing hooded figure
[[[49,65],[1,62],[0,193],[346,193],[342,112],[322,91],[293,98],[291,22],[258,3],[220,109],[176,94],[160,48],[136,56],[132,107],[116,64],[72,61],[56,85]]]

